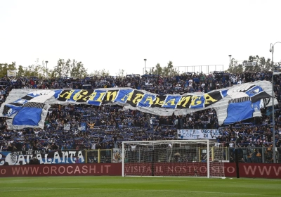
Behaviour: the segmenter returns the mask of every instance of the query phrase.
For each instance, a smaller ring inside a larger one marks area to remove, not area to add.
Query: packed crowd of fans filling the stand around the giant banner
[[[11,89],[96,89],[131,87],[155,94],[209,92],[233,84],[271,80],[270,72],[230,75],[212,72],[209,75],[188,72],[174,77],[159,75],[126,75],[126,77],[86,77],[84,79],[39,79],[37,77],[0,80],[0,103]],[[275,75],[275,97],[281,99],[281,77]],[[280,102],[279,102],[280,103]],[[280,104],[275,106],[275,144],[281,147]],[[6,119],[0,117],[0,151],[110,149],[121,148],[122,141],[178,139],[177,129],[219,129],[217,138],[223,146],[271,147],[273,145],[270,108],[263,117],[254,117],[233,125],[219,127],[216,111],[202,110],[184,116],[156,116],[137,110],[122,110],[121,106],[59,106],[48,111],[44,129],[7,130]],[[150,122],[152,121],[152,122]],[[152,124],[151,124],[152,123]]]

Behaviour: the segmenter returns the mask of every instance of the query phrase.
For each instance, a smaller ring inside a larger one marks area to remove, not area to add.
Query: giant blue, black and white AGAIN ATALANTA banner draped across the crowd
[[[272,84],[268,81],[238,84],[208,93],[152,94],[129,88],[108,89],[13,89],[1,105],[0,116],[9,117],[8,129],[44,128],[52,104],[116,104],[124,109],[155,115],[185,115],[214,108],[219,125],[261,116],[261,108],[272,106]],[[275,99],[275,104],[277,100]]]

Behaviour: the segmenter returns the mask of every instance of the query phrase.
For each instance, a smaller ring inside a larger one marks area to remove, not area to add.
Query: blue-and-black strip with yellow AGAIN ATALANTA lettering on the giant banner
[[[205,108],[226,96],[226,91],[213,91],[209,94],[197,95],[166,95],[159,96],[135,89],[70,89],[55,90],[55,98],[63,102],[87,103],[101,106],[109,103],[129,104],[141,108]]]

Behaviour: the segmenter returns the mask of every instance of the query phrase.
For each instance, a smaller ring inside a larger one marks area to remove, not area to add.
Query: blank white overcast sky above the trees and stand
[[[238,63],[271,58],[270,43],[281,42],[280,8],[279,0],[0,0],[0,63],[38,59],[52,69],[70,58],[89,73],[142,75],[172,61],[180,72],[222,71],[229,55]],[[273,56],[281,61],[281,43]]]

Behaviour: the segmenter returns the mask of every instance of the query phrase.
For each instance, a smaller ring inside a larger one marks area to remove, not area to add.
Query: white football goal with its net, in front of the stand
[[[223,147],[209,140],[123,141],[122,176],[224,177]]]

